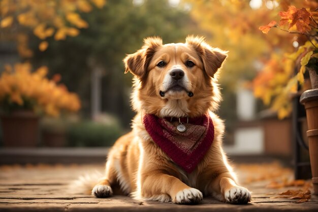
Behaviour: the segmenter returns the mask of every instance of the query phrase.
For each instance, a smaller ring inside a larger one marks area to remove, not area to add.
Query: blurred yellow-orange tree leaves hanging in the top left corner
[[[55,40],[65,40],[67,36],[77,36],[77,28],[88,27],[88,23],[78,12],[87,13],[92,10],[92,5],[102,8],[105,3],[106,0],[0,0],[0,27],[9,28],[14,20],[17,20],[17,28],[7,31],[6,33],[11,34],[6,37],[17,39],[20,56],[31,57],[33,52],[27,48],[27,43],[19,42],[17,38],[18,34],[25,33],[25,27],[41,40],[51,36],[54,36]],[[67,27],[69,24],[75,27]],[[40,44],[42,51],[45,44]]]

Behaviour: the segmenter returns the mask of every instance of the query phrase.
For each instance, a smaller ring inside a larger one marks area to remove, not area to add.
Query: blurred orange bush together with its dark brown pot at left
[[[80,101],[57,84],[60,77],[47,77],[47,68],[31,72],[28,63],[6,66],[0,76],[0,117],[4,145],[36,146],[40,115],[58,116],[63,111],[77,111]]]

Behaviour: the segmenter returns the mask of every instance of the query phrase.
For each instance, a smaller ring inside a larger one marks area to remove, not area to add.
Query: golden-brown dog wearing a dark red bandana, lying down
[[[109,152],[105,176],[92,194],[120,190],[138,200],[197,204],[204,196],[245,204],[250,192],[222,150],[224,122],[214,113],[221,101],[217,78],[227,52],[202,37],[163,44],[144,39],[124,58],[134,75],[132,131]]]

